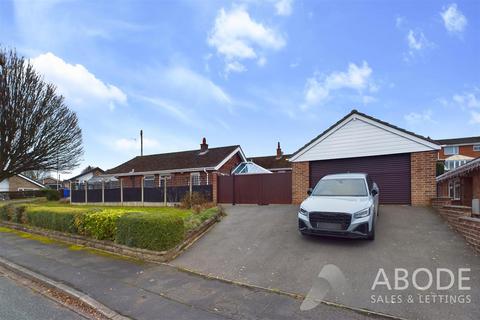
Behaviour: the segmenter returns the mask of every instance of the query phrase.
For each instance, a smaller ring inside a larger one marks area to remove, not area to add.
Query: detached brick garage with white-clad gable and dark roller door
[[[379,185],[380,203],[430,205],[439,150],[430,138],[352,110],[290,157],[292,201],[327,174],[363,172]]]

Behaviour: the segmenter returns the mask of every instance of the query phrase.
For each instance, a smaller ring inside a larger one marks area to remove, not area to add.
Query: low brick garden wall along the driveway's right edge
[[[468,244],[480,252],[480,218],[471,217],[471,207],[443,206],[438,208],[438,212]]]

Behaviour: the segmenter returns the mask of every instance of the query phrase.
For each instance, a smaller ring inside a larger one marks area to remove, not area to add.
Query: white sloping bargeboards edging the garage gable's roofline
[[[406,132],[403,132],[401,130],[397,130],[395,128],[392,128],[390,126],[386,126],[382,123],[379,123],[378,121],[375,121],[375,120],[372,120],[372,119],[369,119],[369,118],[366,118],[366,117],[363,117],[359,114],[352,114],[350,117],[346,118],[345,120],[343,120],[342,122],[340,122],[337,126],[335,126],[334,128],[330,129],[330,131],[326,132],[324,135],[322,135],[321,137],[319,137],[317,140],[313,141],[312,143],[310,143],[310,145],[308,145],[307,147],[305,147],[304,150],[302,150],[301,152],[299,152],[298,154],[296,154],[295,156],[293,156],[292,158],[289,159],[290,162],[299,162],[297,159],[304,155],[307,151],[309,151],[310,149],[312,149],[313,147],[315,147],[317,144],[319,144],[320,142],[322,142],[323,140],[325,140],[326,138],[328,138],[330,135],[332,135],[333,133],[335,133],[336,131],[338,131],[339,129],[341,129],[343,126],[345,126],[347,123],[349,123],[350,121],[352,120],[356,120],[356,119],[360,119],[368,124],[371,124],[371,125],[374,125],[380,129],[383,129],[385,131],[388,131],[388,132],[391,132],[391,133],[394,133],[396,135],[399,135],[403,138],[406,138],[406,139],[409,139],[411,141],[414,141],[416,143],[419,143],[421,145],[424,145],[425,147],[427,147],[428,149],[430,150],[440,150],[441,149],[441,146],[438,145],[438,144],[435,144],[435,143],[432,143],[430,141],[427,141],[425,139],[421,139],[419,137],[416,137],[416,136],[413,136],[411,134],[408,134]]]

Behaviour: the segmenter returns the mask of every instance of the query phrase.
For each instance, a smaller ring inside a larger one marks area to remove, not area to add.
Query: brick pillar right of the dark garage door
[[[411,200],[413,206],[428,206],[436,197],[437,151],[414,152],[411,154]]]

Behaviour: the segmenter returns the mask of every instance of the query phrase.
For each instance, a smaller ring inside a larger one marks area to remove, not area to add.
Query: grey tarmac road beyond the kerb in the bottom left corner
[[[79,314],[5,277],[1,272],[0,319],[85,320]]]

